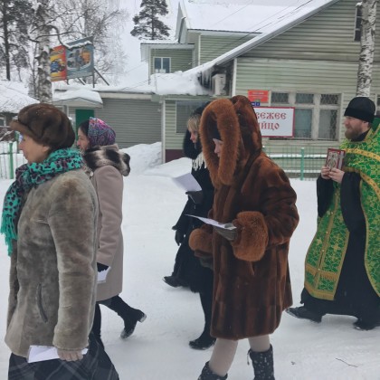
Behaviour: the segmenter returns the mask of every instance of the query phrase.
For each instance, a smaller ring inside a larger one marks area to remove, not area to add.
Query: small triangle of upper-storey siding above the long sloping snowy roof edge
[[[242,36],[210,36],[202,35],[200,38],[201,43],[201,56],[199,64],[209,62],[214,60],[214,58],[219,57],[224,52],[230,52],[235,47],[246,43],[251,40],[252,36],[247,35]]]

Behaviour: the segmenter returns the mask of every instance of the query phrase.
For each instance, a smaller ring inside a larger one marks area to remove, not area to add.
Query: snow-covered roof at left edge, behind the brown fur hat
[[[31,98],[24,83],[19,81],[0,81],[0,112],[17,114],[30,104],[38,103]]]

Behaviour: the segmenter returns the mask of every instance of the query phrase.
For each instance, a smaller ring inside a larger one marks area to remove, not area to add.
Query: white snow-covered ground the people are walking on
[[[138,324],[126,340],[119,338],[121,319],[102,308],[102,337],[121,380],[195,380],[211,349],[195,351],[188,341],[203,328],[198,295],[173,289],[162,277],[172,271],[176,242],[171,226],[185,204],[185,195],[169,176],[190,170],[182,158],[159,166],[160,144],[127,149],[131,175],[125,180],[124,222],[125,267],[121,296],[143,309],[147,320]],[[303,261],[316,227],[315,182],[291,181],[299,200],[300,223],[290,245],[290,275],[297,305],[303,283]],[[0,198],[11,181],[0,181]],[[0,204],[2,205],[2,204]],[[81,208],[78,207],[78,212]],[[8,293],[9,259],[0,238],[1,277],[0,333],[4,337]],[[356,331],[355,318],[329,316],[321,324],[290,317],[284,313],[280,328],[271,337],[277,380],[379,380],[380,328]],[[252,379],[247,366],[248,342],[239,344],[229,380]],[[5,379],[9,349],[0,342],[0,379]]]

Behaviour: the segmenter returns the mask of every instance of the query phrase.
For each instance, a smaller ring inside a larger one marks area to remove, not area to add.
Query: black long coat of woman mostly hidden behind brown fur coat
[[[205,166],[202,147],[200,144],[193,144],[190,140],[190,132],[186,131],[184,138],[185,157],[191,158],[191,174],[202,187],[204,199],[201,204],[195,204],[188,197],[184,210],[182,211],[174,230],[185,235],[184,242],[181,243],[176,254],[176,265],[174,274],[179,280],[185,281],[191,290],[195,292],[204,292],[213,286],[213,272],[209,268],[201,265],[200,260],[195,257],[194,252],[188,245],[190,233],[195,228],[199,228],[203,223],[196,218],[187,216],[187,214],[206,217],[213,206],[214,186],[210,179],[210,174]]]

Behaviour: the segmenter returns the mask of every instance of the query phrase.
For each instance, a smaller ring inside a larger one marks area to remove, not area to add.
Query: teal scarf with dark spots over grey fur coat
[[[33,186],[49,181],[54,176],[80,169],[83,165],[79,150],[55,150],[42,163],[24,164],[16,169],[15,180],[5,194],[0,233],[5,234],[8,255],[12,254],[13,240],[17,240],[17,222],[22,210],[23,196]]]

